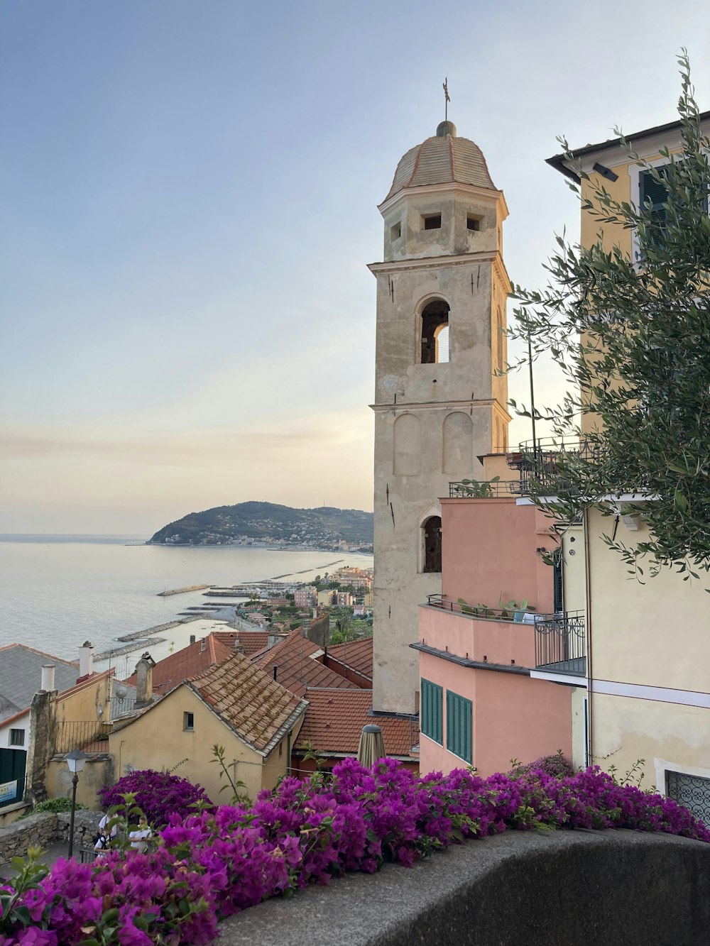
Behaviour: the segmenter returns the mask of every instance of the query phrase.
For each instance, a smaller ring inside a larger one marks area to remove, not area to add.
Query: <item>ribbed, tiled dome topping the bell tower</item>
[[[451,121],[442,121],[433,137],[409,149],[400,159],[384,200],[408,187],[427,184],[473,184],[497,189],[490,180],[481,149],[469,138],[459,138]]]

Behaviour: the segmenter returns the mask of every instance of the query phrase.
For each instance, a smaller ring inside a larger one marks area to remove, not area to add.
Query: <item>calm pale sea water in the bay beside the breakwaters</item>
[[[277,575],[309,581],[343,565],[372,567],[372,556],[251,546],[145,545],[140,535],[0,535],[0,645],[24,643],[74,660],[84,640],[96,653],[117,638],[173,621],[186,607],[218,604],[202,591],[159,598],[192,585],[239,585]],[[298,574],[296,574],[298,573]],[[232,600],[232,599],[228,599]],[[236,599],[235,599],[236,600]],[[190,624],[167,634],[156,658],[185,646]],[[124,659],[124,663],[127,662]],[[122,675],[122,674],[118,674]]]

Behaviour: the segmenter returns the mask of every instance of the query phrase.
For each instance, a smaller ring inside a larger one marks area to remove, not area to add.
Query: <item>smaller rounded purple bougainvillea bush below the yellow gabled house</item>
[[[111,808],[122,804],[123,796],[128,793],[135,797],[135,804],[157,828],[167,825],[171,815],[185,818],[194,813],[196,803],[209,802],[201,785],[152,769],[136,769],[115,785],[105,785],[99,790],[98,798],[105,808]]]

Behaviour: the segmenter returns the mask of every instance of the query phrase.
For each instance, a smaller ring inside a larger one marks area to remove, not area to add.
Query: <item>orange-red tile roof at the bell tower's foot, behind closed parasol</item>
[[[376,723],[382,727],[388,756],[409,758],[413,743],[418,742],[416,723],[398,716],[371,716],[371,690],[308,690],[309,708],[293,748],[311,743],[319,752],[356,755],[363,727]]]

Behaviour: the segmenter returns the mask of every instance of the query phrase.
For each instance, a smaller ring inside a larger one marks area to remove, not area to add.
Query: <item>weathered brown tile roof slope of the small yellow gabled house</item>
[[[241,654],[186,680],[245,742],[268,753],[307,707]]]

